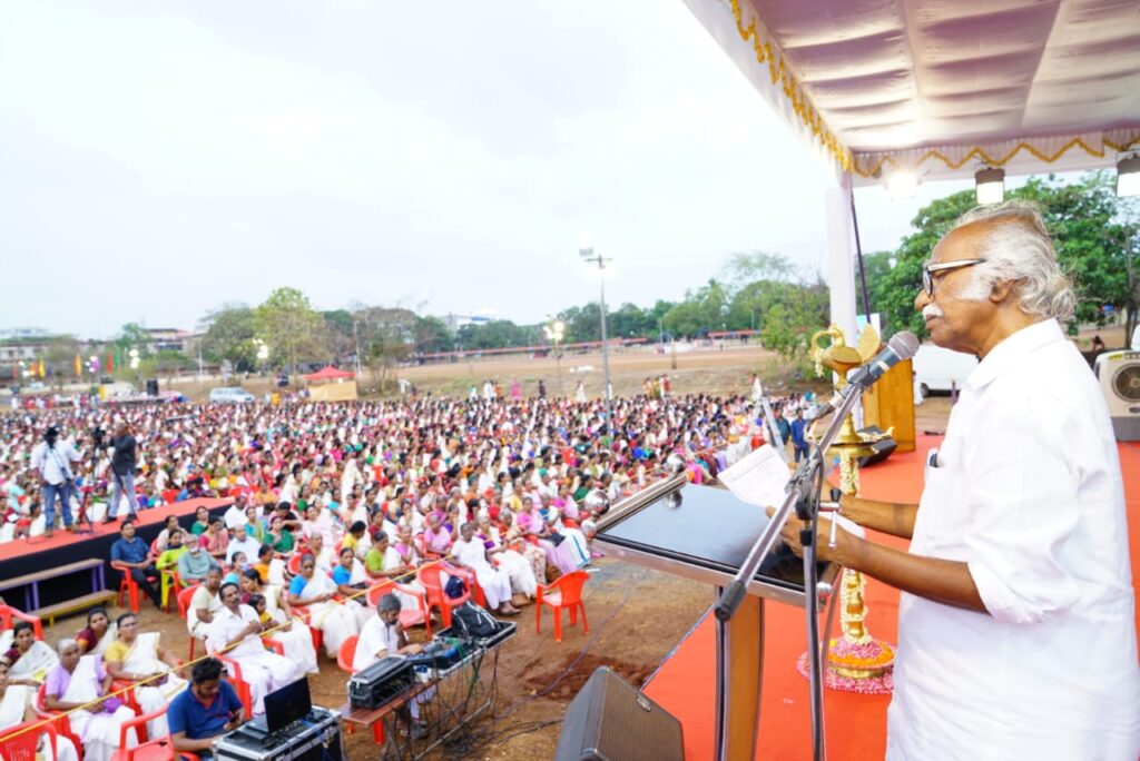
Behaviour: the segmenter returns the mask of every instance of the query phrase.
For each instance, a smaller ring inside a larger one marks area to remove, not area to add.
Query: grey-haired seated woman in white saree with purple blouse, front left
[[[119,697],[105,697],[112,677],[98,655],[79,654],[74,639],[58,645],[59,662],[48,672],[43,706],[49,711],[70,711],[72,733],[83,743],[84,761],[111,761],[119,750],[120,730],[135,712]],[[76,710],[78,709],[78,710]],[[138,744],[133,733],[128,744]]]

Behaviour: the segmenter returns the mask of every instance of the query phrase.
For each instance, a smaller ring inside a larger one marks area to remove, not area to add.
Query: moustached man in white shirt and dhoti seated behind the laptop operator
[[[242,666],[250,686],[253,714],[266,712],[264,697],[296,681],[296,664],[266,649],[261,632],[266,627],[249,605],[238,602],[237,584],[222,584],[221,608],[206,627],[206,652],[226,655]],[[233,674],[231,674],[233,676]]]

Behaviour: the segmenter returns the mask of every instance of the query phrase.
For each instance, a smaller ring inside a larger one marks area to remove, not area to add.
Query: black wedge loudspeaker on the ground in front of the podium
[[[555,761],[684,761],[681,722],[602,666],[562,720]]]

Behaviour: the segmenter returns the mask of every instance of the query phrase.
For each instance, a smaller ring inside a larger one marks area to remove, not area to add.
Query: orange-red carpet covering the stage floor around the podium
[[[895,455],[862,473],[862,493],[874,499],[917,501],[922,491],[922,455],[940,437],[921,436],[918,451]],[[1119,445],[1124,497],[1129,514],[1132,568],[1140,567],[1140,444]],[[906,542],[890,539],[897,546]],[[1134,586],[1134,584],[1133,584]],[[896,641],[898,592],[868,580],[868,627],[871,633]],[[768,602],[764,650],[764,690],[760,705],[758,759],[811,759],[811,704],[807,680],[796,671],[805,649],[804,615],[799,608]],[[1138,605],[1140,628],[1140,605]],[[838,627],[838,616],[836,625]],[[838,633],[838,632],[836,632]],[[715,689],[715,627],[706,616],[661,664],[645,694],[681,720],[685,756],[712,758]],[[824,692],[828,756],[831,761],[881,759],[886,752],[889,695],[863,696]]]

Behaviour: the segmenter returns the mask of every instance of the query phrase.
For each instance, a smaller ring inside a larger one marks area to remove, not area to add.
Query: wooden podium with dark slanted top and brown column
[[[687,484],[684,474],[616,504],[597,521],[594,543],[606,554],[714,587],[719,598],[768,517],[725,489]],[[832,596],[836,564],[820,564],[821,605]],[[716,622],[716,758],[752,759],[760,718],[764,603],[805,607],[804,566],[782,543],[748,584],[727,622]]]

